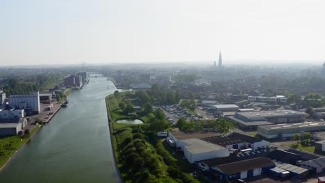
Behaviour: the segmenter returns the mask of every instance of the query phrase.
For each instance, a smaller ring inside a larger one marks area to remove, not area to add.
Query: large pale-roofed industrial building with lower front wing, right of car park
[[[237,112],[235,116],[228,116],[228,119],[238,123],[240,128],[256,130],[259,125],[306,121],[306,113],[293,110]]]

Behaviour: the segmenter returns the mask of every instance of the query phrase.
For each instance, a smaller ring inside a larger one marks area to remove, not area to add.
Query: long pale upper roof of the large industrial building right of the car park
[[[238,112],[241,116],[247,118],[254,116],[262,117],[279,117],[279,116],[305,116],[306,113],[294,110],[271,110],[271,111],[253,111],[253,112]]]

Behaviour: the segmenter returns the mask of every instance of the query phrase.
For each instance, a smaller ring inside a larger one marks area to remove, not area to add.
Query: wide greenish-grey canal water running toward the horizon
[[[90,78],[83,89],[74,90],[69,107],[12,157],[0,182],[119,182],[105,103],[115,90],[106,78]]]

